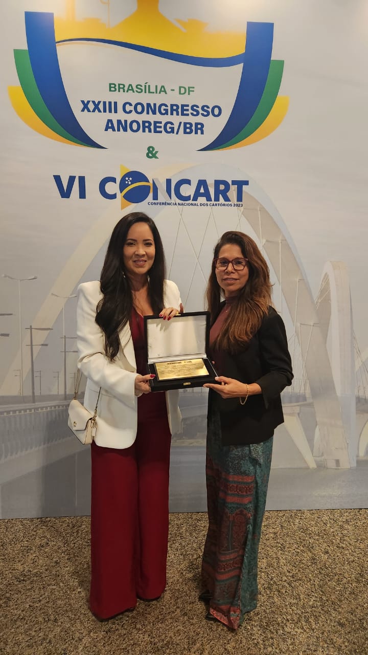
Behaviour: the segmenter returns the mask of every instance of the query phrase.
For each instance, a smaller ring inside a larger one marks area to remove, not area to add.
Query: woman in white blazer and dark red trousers
[[[153,600],[166,586],[168,483],[178,392],[151,394],[143,316],[170,321],[183,311],[165,280],[155,223],[134,212],[115,226],[100,282],[78,288],[79,369],[84,406],[98,430],[91,446],[90,609],[100,619]]]

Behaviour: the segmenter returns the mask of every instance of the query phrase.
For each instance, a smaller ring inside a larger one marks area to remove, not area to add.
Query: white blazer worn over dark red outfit
[[[111,362],[105,355],[104,335],[96,324],[96,306],[102,297],[100,282],[84,282],[78,287],[77,348],[78,367],[87,378],[84,407],[97,409],[97,445],[128,448],[137,434],[137,396],[134,381],[136,357],[129,323],[120,332],[120,349]],[[164,307],[180,307],[180,293],[174,282],[165,280]],[[162,308],[163,309],[163,308]],[[143,374],[143,371],[138,371]],[[166,392],[166,407],[171,432],[181,429],[179,392]]]

